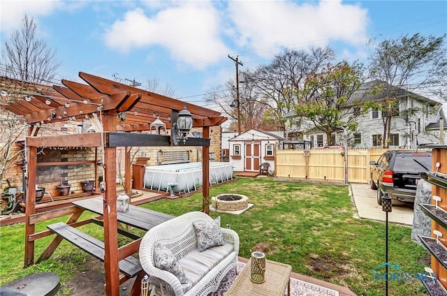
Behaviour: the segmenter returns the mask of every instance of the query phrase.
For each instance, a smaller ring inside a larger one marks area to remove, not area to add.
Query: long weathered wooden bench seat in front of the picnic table
[[[104,242],[101,242],[99,239],[91,237],[87,233],[62,222],[47,225],[47,228],[55,234],[64,237],[68,242],[78,246],[78,248],[86,251],[91,256],[104,261]],[[124,258],[119,261],[119,270],[127,277],[133,278],[142,272],[140,260],[132,256]]]

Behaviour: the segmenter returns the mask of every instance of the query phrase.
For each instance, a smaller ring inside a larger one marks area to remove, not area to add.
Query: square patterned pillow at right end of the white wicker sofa
[[[205,251],[212,246],[223,246],[221,232],[221,217],[217,217],[211,222],[196,221],[193,222],[197,235],[197,249],[199,252]]]

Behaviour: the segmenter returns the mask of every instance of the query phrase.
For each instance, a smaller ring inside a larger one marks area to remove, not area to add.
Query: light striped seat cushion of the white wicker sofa
[[[194,286],[207,272],[210,272],[223,258],[226,258],[233,249],[232,244],[224,244],[201,252],[193,251],[180,259],[179,264],[182,265],[186,277]]]

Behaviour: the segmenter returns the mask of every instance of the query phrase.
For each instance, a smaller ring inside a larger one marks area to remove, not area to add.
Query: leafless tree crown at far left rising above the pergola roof
[[[13,32],[2,51],[1,73],[16,80],[42,83],[51,81],[61,65],[56,52],[36,36],[34,19],[25,15],[22,28]]]

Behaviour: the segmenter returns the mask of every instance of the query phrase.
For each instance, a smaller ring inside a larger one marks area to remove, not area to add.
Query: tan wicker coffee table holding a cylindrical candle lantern
[[[234,296],[284,296],[291,295],[291,265],[272,260],[265,260],[265,281],[253,283],[250,280],[251,258],[242,272],[237,276],[230,290],[225,295]]]

